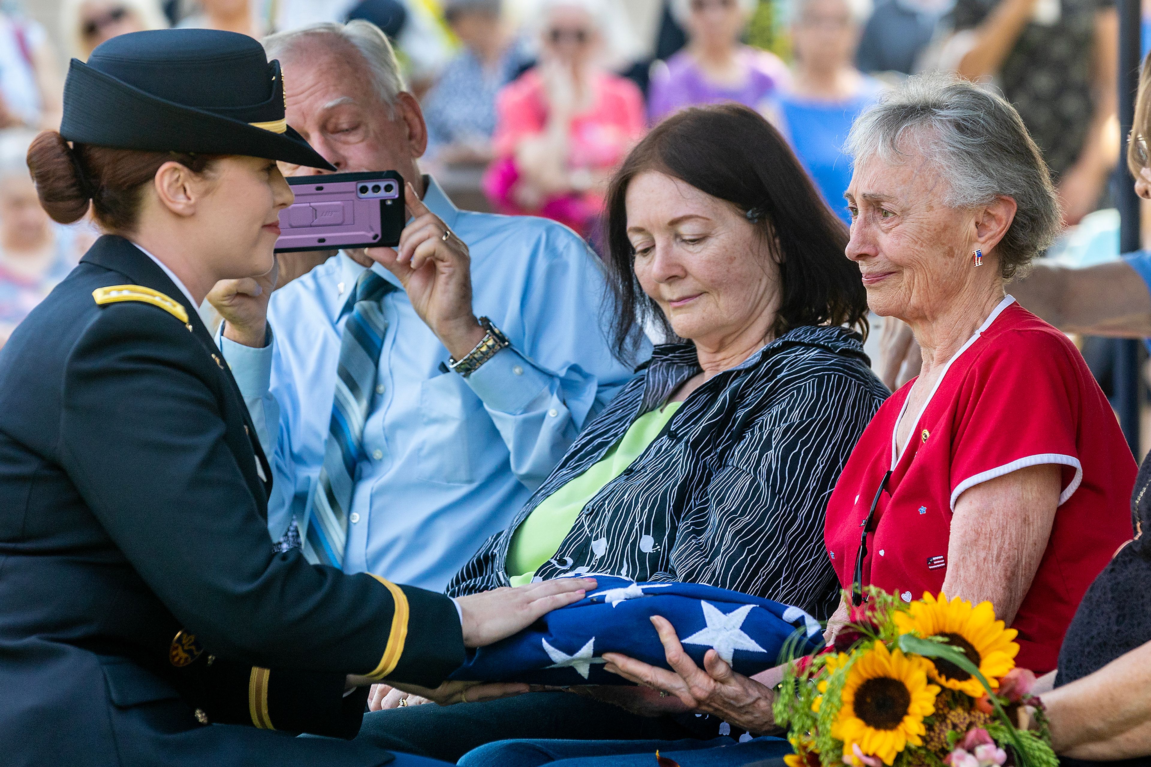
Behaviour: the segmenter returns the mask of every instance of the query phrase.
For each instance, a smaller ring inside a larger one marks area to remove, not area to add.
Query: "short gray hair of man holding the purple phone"
[[[365,71],[372,82],[372,90],[388,106],[389,115],[395,117],[396,99],[407,86],[399,74],[396,52],[379,26],[363,18],[346,24],[325,22],[276,32],[264,38],[262,43],[270,60],[291,53],[306,40],[319,40],[333,48],[351,46],[358,51],[366,64]]]

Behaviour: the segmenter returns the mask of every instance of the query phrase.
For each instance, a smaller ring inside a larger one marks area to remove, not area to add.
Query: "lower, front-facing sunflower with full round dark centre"
[[[939,693],[938,687],[928,683],[930,667],[924,658],[887,652],[876,642],[847,672],[831,737],[844,742],[845,753],[859,745],[862,753],[885,765],[908,744],[920,745],[927,733],[923,718],[935,711]]]

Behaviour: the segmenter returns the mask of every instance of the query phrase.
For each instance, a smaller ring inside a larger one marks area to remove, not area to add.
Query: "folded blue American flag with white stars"
[[[604,672],[601,655],[619,652],[670,668],[648,620],[651,615],[676,627],[684,650],[699,666],[715,649],[747,676],[786,660],[780,651],[788,639],[788,650],[796,655],[822,643],[818,621],[799,607],[698,583],[637,583],[590,573],[585,577],[593,576],[599,582],[595,591],[516,636],[470,651],[451,678],[557,687],[631,684]]]

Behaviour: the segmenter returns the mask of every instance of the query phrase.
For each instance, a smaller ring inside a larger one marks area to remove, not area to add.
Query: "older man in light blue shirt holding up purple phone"
[[[270,300],[251,281],[213,293],[221,350],[272,457],[269,532],[315,519],[350,297],[371,268],[394,290],[379,304],[382,348],[336,563],[442,589],[631,377],[603,331],[602,267],[571,230],[458,210],[419,175],[419,106],[373,83],[363,61],[394,68],[382,36],[328,25],[266,45],[283,66],[289,123],[341,171],[399,170],[413,214],[398,248],[369,252],[374,263],[341,252]],[[477,315],[510,345],[465,377],[449,365],[488,338]]]

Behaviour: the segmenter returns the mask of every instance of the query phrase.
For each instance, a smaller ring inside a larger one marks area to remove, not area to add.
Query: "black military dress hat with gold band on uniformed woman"
[[[71,60],[60,135],[121,149],[243,154],[335,170],[284,120],[279,61],[245,34],[130,32]]]

